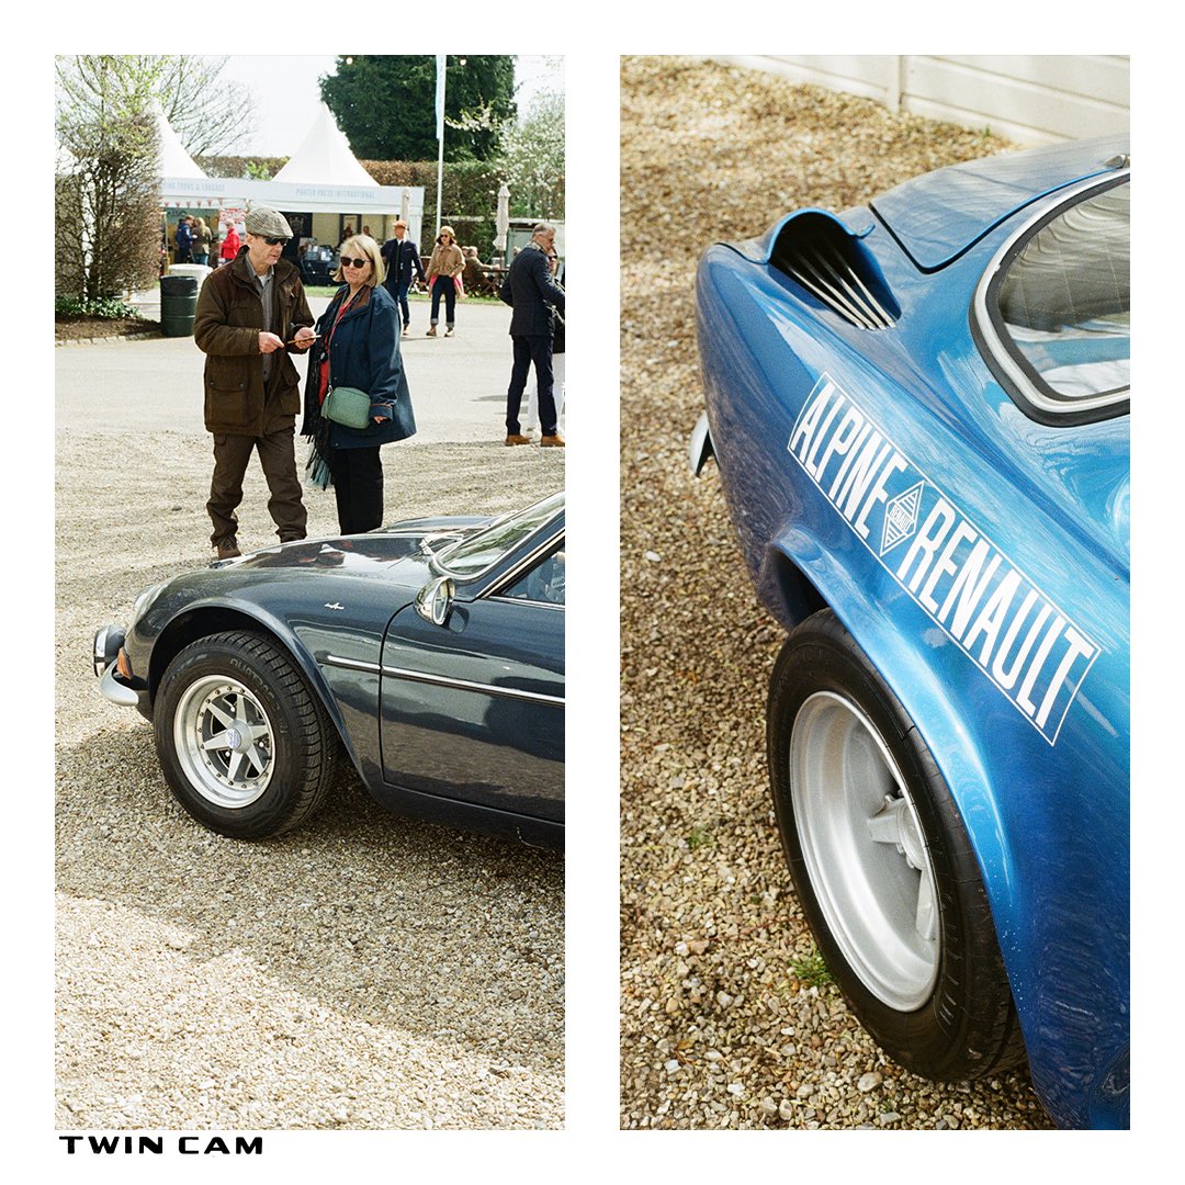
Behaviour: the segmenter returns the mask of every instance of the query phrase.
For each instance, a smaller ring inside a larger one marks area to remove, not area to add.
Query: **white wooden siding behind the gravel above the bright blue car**
[[[1126,132],[1130,63],[1112,55],[720,57],[1018,143]]]

